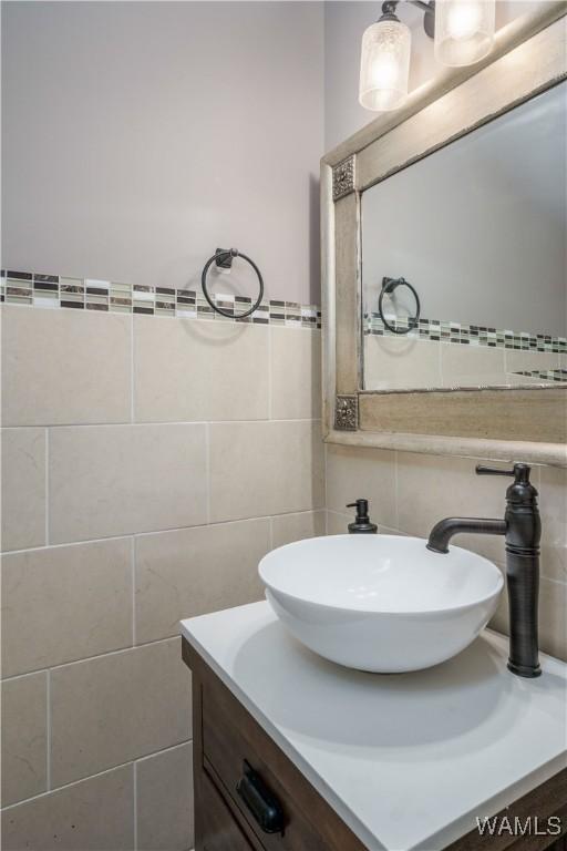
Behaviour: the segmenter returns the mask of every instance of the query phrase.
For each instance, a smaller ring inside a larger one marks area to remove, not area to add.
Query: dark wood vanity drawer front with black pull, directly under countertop
[[[266,851],[363,851],[344,822],[216,677],[203,681],[200,700],[204,771],[255,847]],[[252,783],[259,778],[262,791],[280,808],[282,833],[266,832],[237,791],[250,771]]]

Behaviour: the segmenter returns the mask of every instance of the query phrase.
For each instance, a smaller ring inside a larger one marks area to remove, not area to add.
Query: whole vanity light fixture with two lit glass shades
[[[423,27],[445,65],[472,65],[494,41],[496,0],[404,0],[423,11]],[[398,16],[402,0],[385,0],[362,35],[359,101],[373,112],[395,110],[408,96],[411,30]]]

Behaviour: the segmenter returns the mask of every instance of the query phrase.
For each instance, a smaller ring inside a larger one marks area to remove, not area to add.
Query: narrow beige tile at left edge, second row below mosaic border
[[[2,550],[45,543],[45,430],[3,429]]]

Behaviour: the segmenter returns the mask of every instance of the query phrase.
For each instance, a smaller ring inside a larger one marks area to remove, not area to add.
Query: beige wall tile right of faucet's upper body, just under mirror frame
[[[567,582],[567,470],[542,466],[537,489],[542,513],[542,573]]]

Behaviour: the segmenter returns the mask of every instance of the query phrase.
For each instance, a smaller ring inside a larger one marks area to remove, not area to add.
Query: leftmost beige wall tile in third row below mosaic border
[[[4,555],[4,676],[131,644],[130,541],[99,541]]]

